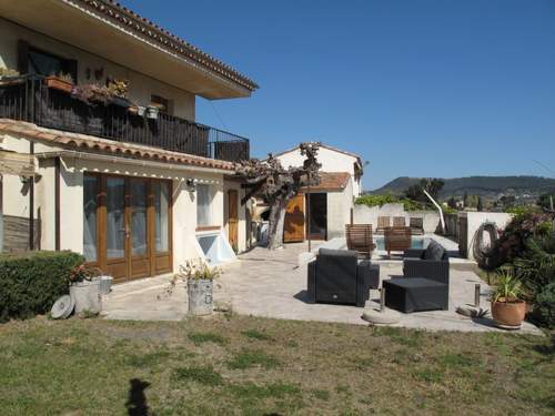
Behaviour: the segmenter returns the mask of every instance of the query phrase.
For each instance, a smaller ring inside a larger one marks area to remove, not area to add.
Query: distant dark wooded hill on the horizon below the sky
[[[421,177],[400,176],[370,193],[401,194],[420,180]],[[555,192],[555,179],[542,176],[467,176],[443,179],[443,181],[445,185],[440,194],[441,197],[463,196],[465,192],[487,197],[502,195],[526,197]]]

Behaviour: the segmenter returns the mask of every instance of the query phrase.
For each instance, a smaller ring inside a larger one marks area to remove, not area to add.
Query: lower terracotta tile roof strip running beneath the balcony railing
[[[234,171],[232,162],[202,158],[186,153],[171,152],[163,149],[145,146],[143,144],[115,142],[113,140],[100,139],[92,135],[67,133],[58,130],[39,128],[36,124],[0,119],[0,133],[12,133],[23,135],[27,139],[53,142],[65,148],[77,148],[83,151],[93,150],[102,153],[115,153],[121,156],[134,156],[147,160],[155,160],[168,163],[182,163],[203,168]]]

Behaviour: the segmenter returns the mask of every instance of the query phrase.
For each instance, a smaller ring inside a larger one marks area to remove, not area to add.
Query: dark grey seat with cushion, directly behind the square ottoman
[[[404,277],[424,277],[450,284],[447,251],[432,240],[425,250],[407,250],[403,256]]]

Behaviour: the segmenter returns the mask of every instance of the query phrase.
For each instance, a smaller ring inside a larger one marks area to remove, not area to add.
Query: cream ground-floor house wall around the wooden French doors
[[[29,141],[14,135],[3,135],[0,148],[6,150],[29,152]],[[43,143],[36,143],[36,152],[52,152],[60,150]],[[41,217],[41,250],[56,248],[56,194],[54,165],[51,159],[37,161],[39,179],[36,180],[36,215]],[[125,176],[158,177],[171,180],[173,183],[173,266],[174,271],[185,260],[199,257],[194,243],[196,235],[196,193],[190,192],[186,180],[209,184],[213,193],[211,217],[213,226],[223,227],[226,213],[224,211],[224,175],[220,172],[205,172],[195,169],[176,171],[161,166],[127,164],[118,160],[92,161],[64,155],[61,158],[60,181],[60,245],[62,250],[83,252],[83,174],[99,172]],[[240,187],[239,184],[232,186]],[[21,192],[22,183],[19,176],[3,176],[3,213],[6,215],[29,216],[29,195]],[[229,189],[229,187],[228,187]],[[239,197],[243,194],[240,191]],[[245,250],[245,216],[244,206],[239,210],[239,245]]]

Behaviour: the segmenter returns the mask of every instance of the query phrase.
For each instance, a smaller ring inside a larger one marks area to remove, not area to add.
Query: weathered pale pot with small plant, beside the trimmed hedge
[[[81,264],[70,273],[70,296],[75,301],[75,314],[83,312],[100,313],[100,271]]]

